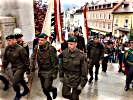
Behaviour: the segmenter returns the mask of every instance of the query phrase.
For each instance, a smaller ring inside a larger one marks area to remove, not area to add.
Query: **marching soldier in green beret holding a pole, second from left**
[[[52,100],[50,92],[53,94],[53,99],[57,96],[57,88],[53,87],[53,80],[57,77],[57,52],[56,49],[47,42],[47,35],[42,33],[39,35],[38,46],[35,47],[31,56],[31,71],[35,70],[35,62],[38,63],[38,76],[41,81],[41,86],[47,100]]]

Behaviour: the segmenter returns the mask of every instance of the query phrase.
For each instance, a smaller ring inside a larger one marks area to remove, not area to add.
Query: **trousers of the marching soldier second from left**
[[[52,100],[50,92],[53,93],[53,98],[56,98],[56,96],[57,96],[57,88],[52,86],[53,77],[44,78],[41,75],[39,77],[40,77],[41,87],[42,87],[43,93],[47,96],[47,100]]]

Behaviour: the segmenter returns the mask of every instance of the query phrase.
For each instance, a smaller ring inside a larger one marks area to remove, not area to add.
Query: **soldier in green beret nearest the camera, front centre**
[[[87,58],[76,48],[76,37],[69,37],[67,42],[68,48],[60,54],[59,76],[63,82],[62,96],[70,100],[79,100],[81,90],[87,83]]]

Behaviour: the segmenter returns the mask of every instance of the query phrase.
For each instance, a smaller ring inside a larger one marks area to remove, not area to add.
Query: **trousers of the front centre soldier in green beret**
[[[71,92],[72,89],[72,92]],[[79,95],[81,93],[81,90],[78,90],[77,88],[71,88],[65,84],[63,84],[62,87],[62,96],[69,100],[79,100]]]

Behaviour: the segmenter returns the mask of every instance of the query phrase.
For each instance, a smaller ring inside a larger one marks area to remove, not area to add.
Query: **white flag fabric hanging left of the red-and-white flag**
[[[53,3],[54,3],[53,0],[48,0],[48,9],[47,9],[47,13],[43,23],[43,29],[42,29],[42,33],[47,34],[49,37],[51,36],[51,18],[52,18],[51,15],[54,9]]]

